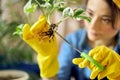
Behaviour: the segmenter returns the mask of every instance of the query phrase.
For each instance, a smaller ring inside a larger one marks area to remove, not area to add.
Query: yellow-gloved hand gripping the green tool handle
[[[100,71],[98,67],[84,58],[74,58],[73,63],[79,65],[80,68],[88,67],[92,70],[90,79],[97,76],[98,79],[102,79],[107,76],[110,80],[120,80],[119,54],[105,46],[98,46],[92,49],[88,55],[98,61],[104,67],[104,70]]]

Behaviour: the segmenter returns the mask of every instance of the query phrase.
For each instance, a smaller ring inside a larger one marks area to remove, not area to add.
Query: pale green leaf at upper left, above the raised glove
[[[29,15],[30,13],[34,13],[37,5],[32,3],[32,0],[29,0],[26,5],[24,6],[24,13]]]

